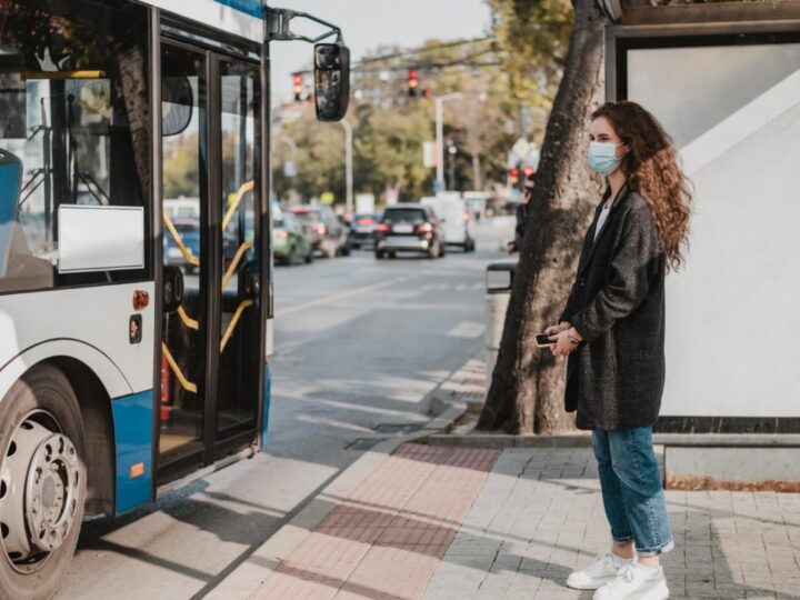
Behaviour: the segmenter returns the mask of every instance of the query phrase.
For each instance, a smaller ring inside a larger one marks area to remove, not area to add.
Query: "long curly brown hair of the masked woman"
[[[678,151],[656,117],[636,102],[607,102],[592,112],[604,117],[629,151],[621,169],[628,186],[650,204],[670,270],[683,263],[692,209],[691,182],[680,168]]]

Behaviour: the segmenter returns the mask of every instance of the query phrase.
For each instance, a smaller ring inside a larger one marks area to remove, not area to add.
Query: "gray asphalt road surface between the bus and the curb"
[[[477,252],[441,260],[279,268],[266,452],[86,522],[57,598],[202,598],[371,440],[427,421],[424,396],[482,349],[484,266],[510,231],[486,224]]]

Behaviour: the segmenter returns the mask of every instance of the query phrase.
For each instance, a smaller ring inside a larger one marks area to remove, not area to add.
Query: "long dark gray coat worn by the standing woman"
[[[667,260],[652,211],[627,187],[594,240],[598,206],[560,321],[583,342],[567,364],[566,409],[579,429],[653,426],[664,384]]]

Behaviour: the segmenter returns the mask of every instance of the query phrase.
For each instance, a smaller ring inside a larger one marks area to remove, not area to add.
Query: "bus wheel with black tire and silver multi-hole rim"
[[[33,367],[0,401],[0,596],[50,598],[78,543],[87,482],[80,408],[61,370]]]

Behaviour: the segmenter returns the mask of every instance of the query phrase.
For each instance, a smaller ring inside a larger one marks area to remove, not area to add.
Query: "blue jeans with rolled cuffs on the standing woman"
[[[652,428],[594,430],[592,447],[614,542],[633,540],[640,557],[671,550],[674,544],[652,448]]]

